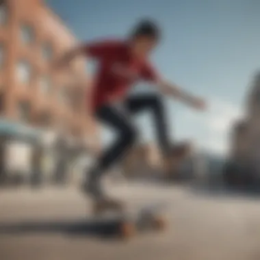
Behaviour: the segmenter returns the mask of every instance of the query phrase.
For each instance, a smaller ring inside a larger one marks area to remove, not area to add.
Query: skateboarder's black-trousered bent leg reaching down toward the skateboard
[[[88,172],[88,179],[84,183],[85,190],[88,194],[96,199],[103,199],[105,195],[101,189],[101,177],[114,165],[120,157],[125,155],[129,148],[135,142],[135,128],[129,122],[127,114],[119,111],[115,107],[103,107],[99,109],[96,116],[105,125],[112,127],[117,134],[116,141],[104,151],[96,164],[90,168]]]

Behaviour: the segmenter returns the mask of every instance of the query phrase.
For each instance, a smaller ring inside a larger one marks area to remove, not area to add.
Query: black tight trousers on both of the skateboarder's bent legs
[[[161,151],[164,155],[168,155],[170,152],[170,140],[168,139],[164,104],[159,96],[149,94],[129,97],[118,109],[116,106],[107,105],[101,107],[96,112],[96,117],[101,122],[112,127],[118,133],[116,141],[99,157],[97,161],[99,170],[94,173],[98,176],[95,176],[95,178],[99,178],[110,166],[116,164],[127,153],[129,148],[133,146],[137,132],[129,116],[140,112],[142,109],[151,110]]]

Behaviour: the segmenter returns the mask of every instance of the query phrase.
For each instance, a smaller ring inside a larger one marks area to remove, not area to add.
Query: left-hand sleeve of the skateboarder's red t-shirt
[[[85,44],[83,48],[90,57],[102,58],[116,51],[118,47],[120,47],[120,42],[116,40],[102,40]]]

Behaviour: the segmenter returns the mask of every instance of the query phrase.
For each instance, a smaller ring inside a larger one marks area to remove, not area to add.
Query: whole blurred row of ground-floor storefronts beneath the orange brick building
[[[81,179],[93,156],[83,140],[0,120],[0,183],[33,186]]]

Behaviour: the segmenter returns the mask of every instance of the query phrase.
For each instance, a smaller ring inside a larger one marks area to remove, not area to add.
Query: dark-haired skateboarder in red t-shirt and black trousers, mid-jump
[[[117,163],[134,144],[136,129],[131,115],[143,109],[151,110],[157,129],[157,139],[161,152],[170,155],[170,140],[166,127],[164,103],[155,94],[127,96],[127,90],[139,80],[158,86],[167,96],[179,99],[196,109],[204,109],[205,102],[187,94],[174,83],[164,80],[151,62],[149,56],[161,40],[161,31],[153,21],[140,21],[125,39],[99,40],[82,44],[68,51],[55,63],[56,68],[66,66],[77,55],[85,55],[98,62],[94,86],[92,88],[92,112],[105,125],[112,127],[117,135],[115,142],[101,153],[86,174],[83,190],[92,196],[101,207],[119,206],[109,199],[101,188],[101,179],[109,167]]]

